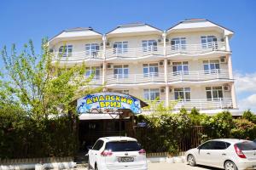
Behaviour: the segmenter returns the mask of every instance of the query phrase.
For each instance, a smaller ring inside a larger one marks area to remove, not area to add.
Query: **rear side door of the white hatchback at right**
[[[228,153],[227,148],[230,146],[230,143],[224,141],[213,141],[212,147],[213,150],[210,152],[212,166],[214,167],[223,167],[224,161],[226,160]]]

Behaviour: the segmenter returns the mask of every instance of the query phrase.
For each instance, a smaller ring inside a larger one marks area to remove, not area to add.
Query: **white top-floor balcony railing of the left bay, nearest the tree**
[[[84,59],[103,59],[102,51],[78,51],[78,52],[69,52],[62,54],[61,52],[54,52],[53,58],[60,60],[84,60]]]

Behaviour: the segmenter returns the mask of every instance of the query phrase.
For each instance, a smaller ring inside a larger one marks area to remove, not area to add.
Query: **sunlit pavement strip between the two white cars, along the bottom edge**
[[[148,163],[148,170],[220,170],[214,167],[190,167],[185,163]]]

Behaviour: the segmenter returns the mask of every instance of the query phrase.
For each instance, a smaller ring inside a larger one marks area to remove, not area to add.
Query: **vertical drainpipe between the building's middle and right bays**
[[[165,74],[165,82],[166,82],[166,107],[169,106],[169,86],[168,86],[168,65],[167,65],[167,59],[166,59],[166,31],[163,31],[162,34],[163,41],[164,41],[164,74]]]

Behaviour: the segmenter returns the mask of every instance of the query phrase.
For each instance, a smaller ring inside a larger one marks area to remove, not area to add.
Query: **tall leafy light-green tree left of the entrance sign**
[[[90,88],[94,75],[84,78],[85,65],[68,67],[61,63],[61,55],[49,52],[46,38],[42,41],[41,54],[36,54],[32,41],[17,53],[15,45],[10,54],[6,46],[2,50],[4,91],[32,118],[47,118],[49,115],[75,110],[75,99],[101,88]],[[64,51],[65,49],[63,49]],[[63,53],[62,53],[63,54]],[[53,62],[55,61],[55,62]]]

